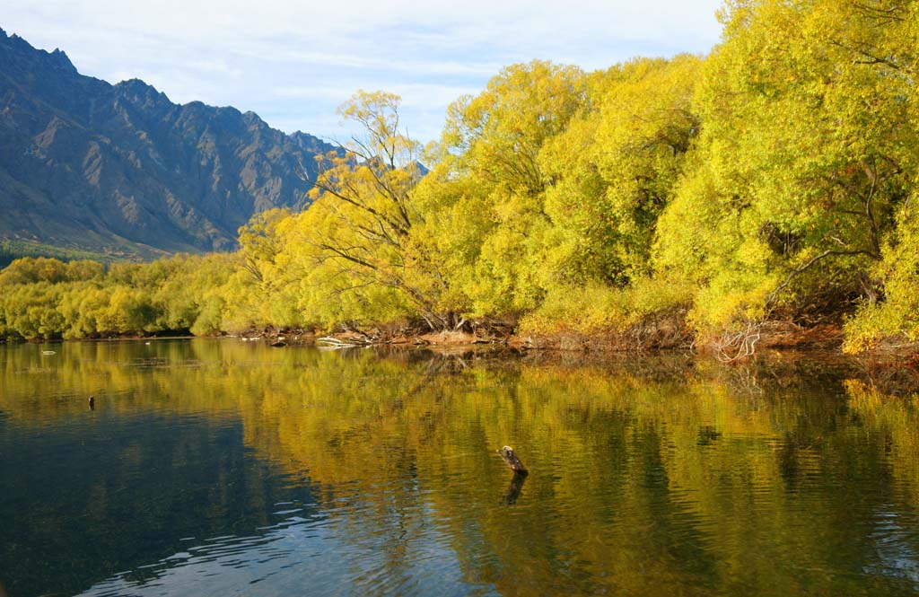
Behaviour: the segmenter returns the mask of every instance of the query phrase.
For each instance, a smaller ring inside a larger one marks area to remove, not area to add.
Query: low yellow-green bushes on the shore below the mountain
[[[21,258],[0,272],[0,337],[79,339],[223,329],[236,257],[147,264]]]

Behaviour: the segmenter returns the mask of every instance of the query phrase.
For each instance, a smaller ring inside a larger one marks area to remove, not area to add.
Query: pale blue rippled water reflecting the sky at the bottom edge
[[[400,545],[342,541],[328,519],[286,520],[264,534],[212,537],[159,562],[96,583],[84,595],[468,594],[446,537]],[[393,568],[392,557],[400,557]],[[202,585],[201,578],[208,578]],[[486,587],[487,588],[487,587]],[[481,591],[479,591],[481,592]],[[485,591],[487,592],[487,591]]]

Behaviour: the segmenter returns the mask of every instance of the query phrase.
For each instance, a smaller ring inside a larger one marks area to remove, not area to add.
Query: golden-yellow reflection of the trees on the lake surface
[[[845,367],[208,340],[65,344],[50,362],[39,348],[5,349],[7,428],[53,434],[89,415],[89,395],[108,425],[158,415],[235,426],[275,473],[253,483],[227,469],[215,491],[242,484],[258,504],[267,486],[310,488],[336,536],[383,556],[357,586],[414,586],[437,536],[470,586],[509,594],[915,588],[919,403]],[[531,470],[526,491],[523,477],[508,486],[494,453],[505,444]],[[213,458],[187,445],[174,462]],[[135,448],[122,458],[156,443]]]

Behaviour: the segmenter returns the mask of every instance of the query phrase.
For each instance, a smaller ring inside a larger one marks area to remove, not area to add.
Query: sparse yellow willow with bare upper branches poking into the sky
[[[413,199],[421,146],[400,127],[400,101],[358,91],[338,109],[359,133],[317,158],[312,206],[285,233],[286,250],[305,264],[301,306],[324,323],[400,315],[435,328],[452,323],[414,242],[414,227],[425,221]]]

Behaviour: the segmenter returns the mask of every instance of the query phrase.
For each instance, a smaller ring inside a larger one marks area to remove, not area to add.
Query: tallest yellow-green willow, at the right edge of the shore
[[[658,228],[659,270],[717,331],[804,324],[879,293],[916,166],[913,3],[735,1],[697,90],[698,154]]]

